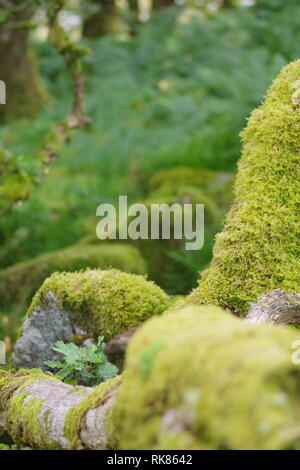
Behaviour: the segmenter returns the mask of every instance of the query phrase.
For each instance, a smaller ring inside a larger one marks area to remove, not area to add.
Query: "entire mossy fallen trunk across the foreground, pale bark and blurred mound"
[[[74,450],[299,449],[297,331],[190,306],[148,320],[130,340],[122,378],[98,387],[73,387],[38,369],[2,371],[0,442]]]

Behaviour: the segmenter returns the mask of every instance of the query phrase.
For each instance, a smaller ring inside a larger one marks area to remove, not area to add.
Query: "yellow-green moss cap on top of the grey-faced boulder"
[[[169,297],[143,276],[116,269],[86,270],[49,277],[35,295],[28,315],[42,306],[49,291],[59,308],[71,312],[77,325],[95,337],[103,335],[106,341],[169,306]]]

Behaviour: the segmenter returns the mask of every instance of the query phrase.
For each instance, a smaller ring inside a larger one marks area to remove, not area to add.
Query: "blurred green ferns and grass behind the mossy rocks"
[[[1,267],[75,243],[88,224],[96,226],[98,204],[115,203],[119,194],[130,203],[144,199],[145,181],[158,170],[234,171],[245,117],[298,56],[299,8],[296,0],[266,0],[184,23],[174,7],[154,14],[134,37],[84,41],[93,51],[84,59],[93,124],[64,147],[32,199],[1,217]],[[33,121],[0,129],[5,146],[27,156],[28,174],[36,171],[34,150],[72,100],[62,57],[45,42],[35,49],[50,105]],[[203,258],[194,254],[192,263],[175,250],[182,262],[168,274],[171,291],[194,286],[196,271],[211,259],[213,237],[207,234]],[[179,279],[186,263],[193,268]]]

